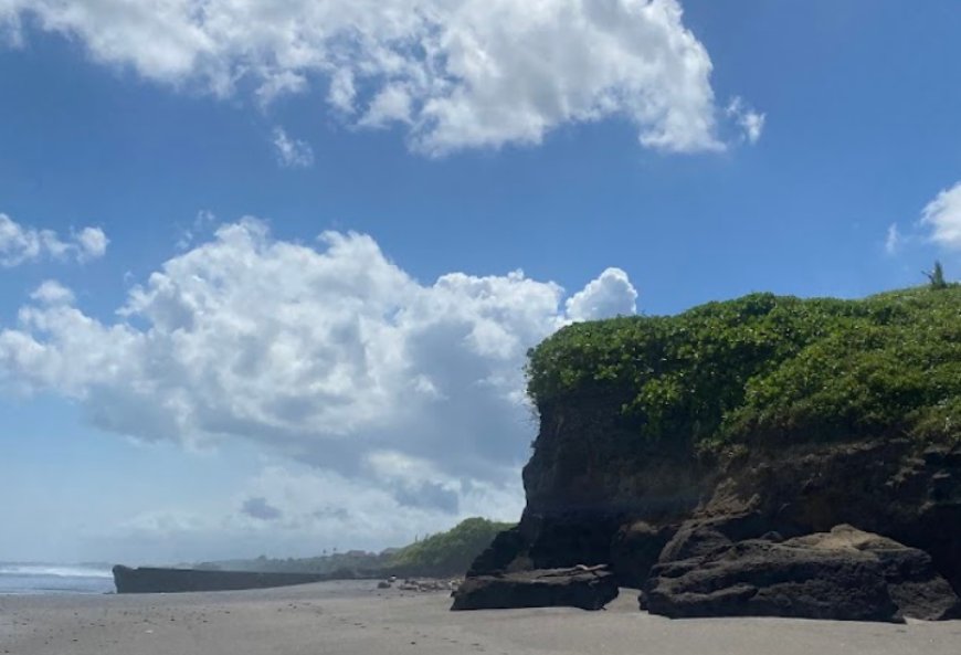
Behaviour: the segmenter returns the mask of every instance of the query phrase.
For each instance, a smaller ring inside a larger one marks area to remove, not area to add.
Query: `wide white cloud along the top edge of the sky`
[[[711,61],[679,0],[6,0],[0,24],[77,38],[99,62],[260,103],[329,84],[336,113],[400,124],[431,155],[538,144],[619,118],[666,151],[724,148]],[[22,21],[22,18],[30,21]],[[720,113],[725,119],[730,117]],[[751,141],[763,115],[735,116]]]

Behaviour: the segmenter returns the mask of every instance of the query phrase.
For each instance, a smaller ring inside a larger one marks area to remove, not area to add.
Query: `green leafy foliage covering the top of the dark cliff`
[[[961,442],[961,286],[858,300],[752,294],[571,325],[529,352],[541,410],[605,398],[696,446],[909,435]]]

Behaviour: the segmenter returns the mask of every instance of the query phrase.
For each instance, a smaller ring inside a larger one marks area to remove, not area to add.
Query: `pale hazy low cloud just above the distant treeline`
[[[519,478],[519,472],[517,477]],[[202,508],[144,511],[99,530],[94,552],[129,552],[134,561],[197,561],[224,557],[316,556],[339,548],[380,550],[415,536],[448,529],[471,516],[517,520],[517,485],[444,478],[420,496],[451,494],[451,513],[416,495],[398,494],[389,480],[347,477],[296,464],[272,464],[226,501]],[[179,553],[170,560],[171,553]]]

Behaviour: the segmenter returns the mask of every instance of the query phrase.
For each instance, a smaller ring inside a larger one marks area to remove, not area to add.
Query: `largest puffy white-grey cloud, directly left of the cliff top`
[[[631,314],[637,294],[611,268],[566,310],[563,296],[521,272],[425,285],[370,236],[327,232],[311,247],[244,219],[167,261],[115,323],[45,283],[0,331],[0,384],[75,399],[96,426],[140,440],[244,440],[424,521],[493,500],[514,510],[536,429],[527,349],[571,320]],[[294,520],[326,497],[300,510],[268,492],[241,514]]]

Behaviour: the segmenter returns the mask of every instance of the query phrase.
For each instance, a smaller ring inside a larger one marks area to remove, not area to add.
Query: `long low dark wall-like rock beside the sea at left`
[[[339,574],[345,574],[340,572]],[[114,567],[117,593],[181,593],[191,591],[237,591],[292,587],[326,580],[340,580],[334,574],[256,573],[250,571],[200,571],[194,569],[130,569]]]

